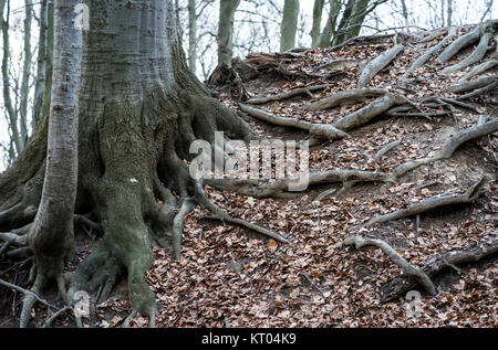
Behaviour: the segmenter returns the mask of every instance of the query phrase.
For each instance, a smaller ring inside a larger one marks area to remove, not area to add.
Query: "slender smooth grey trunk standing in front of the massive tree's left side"
[[[54,278],[66,301],[62,277],[64,257],[72,250],[77,184],[77,85],[82,34],[72,21],[79,0],[56,0],[54,13],[54,79],[49,119],[46,170],[37,216],[28,233],[37,262],[32,290],[41,294]],[[34,298],[25,296],[21,327],[28,325]]]

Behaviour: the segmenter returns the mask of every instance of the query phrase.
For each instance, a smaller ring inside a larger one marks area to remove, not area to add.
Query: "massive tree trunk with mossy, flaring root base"
[[[246,139],[250,129],[188,70],[173,0],[84,3],[91,9],[91,30],[84,35],[81,63],[75,212],[91,211],[104,237],[68,278],[69,297],[103,286],[105,299],[126,272],[134,311],[151,316],[154,325],[154,295],[145,282],[152,244],[173,246],[178,231],[174,223],[181,222],[175,220],[176,210],[186,199],[195,195],[206,203],[184,162],[194,158],[189,147],[197,139],[214,145],[217,130]],[[54,82],[61,75],[55,71]],[[60,105],[53,100],[54,110]],[[0,231],[28,224],[37,211],[42,215],[48,128],[44,118],[24,152],[0,177]],[[56,230],[65,232],[66,218],[61,219]]]

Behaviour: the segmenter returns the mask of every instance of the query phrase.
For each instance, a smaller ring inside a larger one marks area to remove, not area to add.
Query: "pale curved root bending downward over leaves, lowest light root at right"
[[[363,238],[360,236],[356,237],[347,237],[344,240],[344,245],[354,245],[356,250],[360,250],[364,246],[376,246],[381,248],[391,259],[402,268],[403,273],[407,276],[415,278],[429,295],[436,295],[436,287],[434,286],[430,278],[419,268],[411,265],[407,261],[405,261],[391,245],[385,243],[382,240],[371,240]]]

